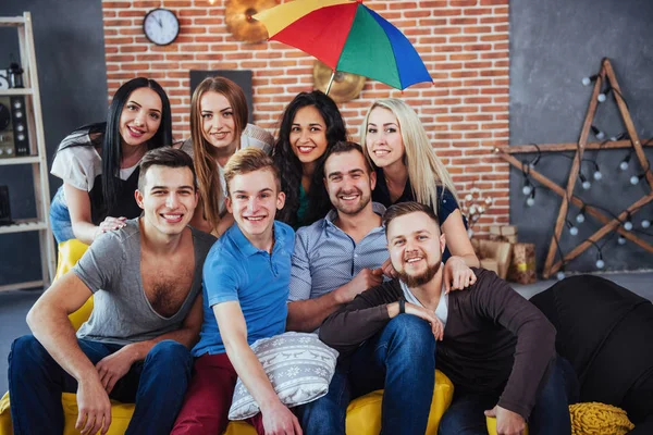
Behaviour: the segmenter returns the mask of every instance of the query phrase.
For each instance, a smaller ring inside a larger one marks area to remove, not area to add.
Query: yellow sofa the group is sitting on
[[[84,254],[87,245],[76,239],[59,244],[59,264],[57,266],[57,277],[66,273],[79,258]],[[82,323],[86,322],[93,311],[93,297],[77,311],[70,315],[71,323],[77,330]],[[435,388],[433,390],[433,401],[431,403],[431,414],[429,417],[428,434],[438,433],[438,424],[444,411],[448,408],[454,393],[452,382],[441,372],[435,371]],[[377,390],[366,396],[353,400],[347,408],[347,434],[349,435],[378,435],[381,430],[381,400],[383,390]],[[61,396],[61,402],[64,411],[64,435],[73,435],[78,432],[75,430],[77,420],[77,399],[72,393],[64,393]],[[111,407],[111,427],[108,435],[124,434],[132,414],[134,413],[133,403],[121,403],[112,400]],[[12,435],[13,427],[11,423],[9,393],[0,399],[0,435]],[[256,430],[245,422],[231,422],[224,435],[257,435]]]

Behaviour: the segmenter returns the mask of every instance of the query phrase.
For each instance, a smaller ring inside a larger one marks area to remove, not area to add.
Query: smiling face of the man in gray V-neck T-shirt
[[[193,172],[188,167],[152,165],[145,174],[136,202],[146,225],[164,235],[181,234],[197,207]]]

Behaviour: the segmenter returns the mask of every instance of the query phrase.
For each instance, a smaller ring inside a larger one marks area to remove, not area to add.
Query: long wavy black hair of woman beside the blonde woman
[[[272,151],[272,158],[281,174],[281,189],[286,196],[285,206],[278,212],[276,219],[293,226],[296,226],[299,223],[297,222],[297,210],[299,210],[299,187],[301,186],[303,167],[301,162],[293,152],[289,136],[293,122],[295,121],[295,114],[299,109],[307,105],[315,107],[324,119],[326,125],[326,149],[338,140],[346,140],[347,136],[347,128],[345,127],[345,122],[343,121],[337,105],[335,105],[335,102],[333,102],[333,100],[324,92],[319,90],[300,92],[285,108],[279,127],[279,138],[276,139],[274,150]],[[326,152],[324,152],[324,154]],[[323,164],[323,158],[324,156],[321,156],[316,161],[316,170],[313,171],[310,183],[310,190],[307,192],[309,206],[306,214],[306,222],[300,222],[300,224],[311,224],[315,221],[324,217],[326,212],[331,209],[329,195],[322,183],[323,175],[320,171]]]

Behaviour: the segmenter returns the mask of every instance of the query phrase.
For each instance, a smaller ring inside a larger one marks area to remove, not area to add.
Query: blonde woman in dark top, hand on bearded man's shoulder
[[[377,172],[372,200],[385,207],[406,201],[430,206],[446,237],[446,290],[473,284],[476,275],[469,268],[480,263],[467,236],[456,188],[417,113],[396,98],[375,101],[362,123],[360,142]],[[390,264],[384,264],[387,269]]]

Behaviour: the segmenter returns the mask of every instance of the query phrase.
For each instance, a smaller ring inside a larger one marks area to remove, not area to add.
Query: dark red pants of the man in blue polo
[[[207,353],[197,358],[184,405],[171,435],[222,435],[229,424],[229,408],[237,378],[226,353]],[[247,422],[259,435],[264,435],[260,412]]]

